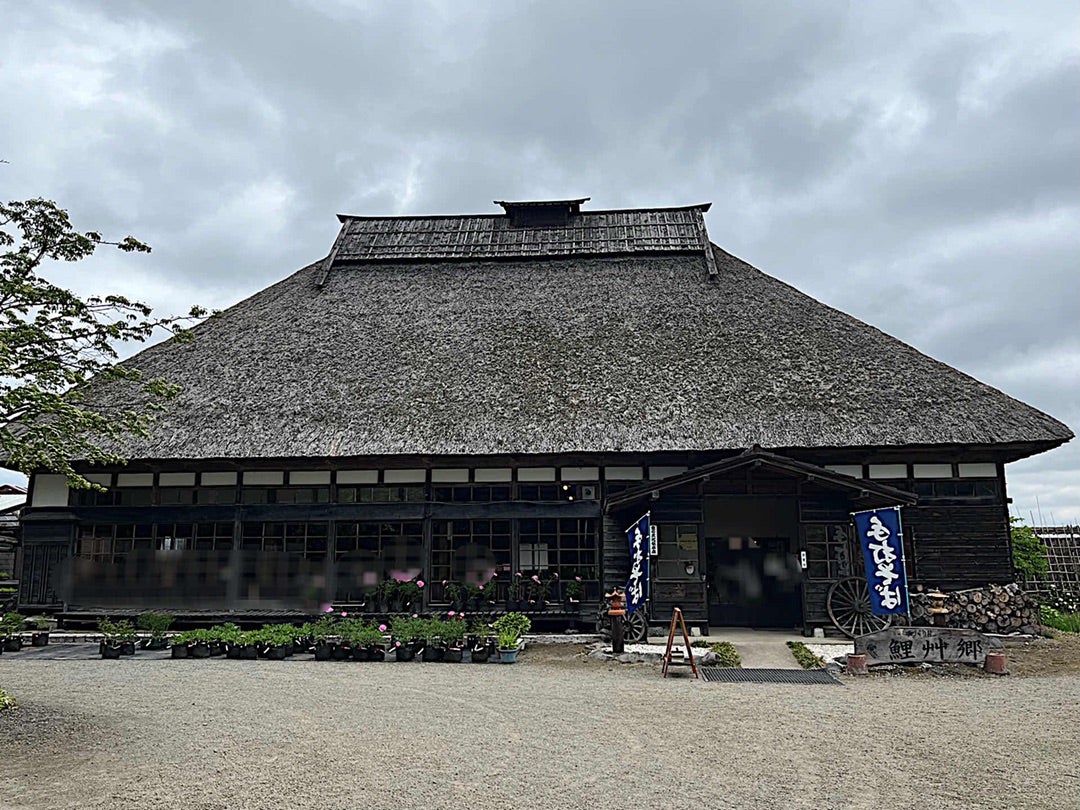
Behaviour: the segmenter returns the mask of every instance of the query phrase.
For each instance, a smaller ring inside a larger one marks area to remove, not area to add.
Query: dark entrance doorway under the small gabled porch
[[[786,537],[717,537],[705,546],[708,623],[794,627],[802,623],[802,571]]]

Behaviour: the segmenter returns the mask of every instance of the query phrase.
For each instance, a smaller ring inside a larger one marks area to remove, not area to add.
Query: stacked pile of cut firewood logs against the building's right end
[[[912,594],[912,623],[929,625],[932,600],[926,593]],[[987,585],[945,595],[947,627],[968,627],[982,633],[1035,633],[1039,608],[1016,583]]]

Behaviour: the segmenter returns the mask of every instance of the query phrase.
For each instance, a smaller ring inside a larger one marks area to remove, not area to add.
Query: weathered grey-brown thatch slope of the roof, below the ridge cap
[[[396,221],[418,233],[446,225]],[[1018,457],[1071,437],[1045,414],[715,247],[713,261],[687,240],[665,254],[451,261],[403,260],[386,245],[369,245],[365,259],[351,246],[348,260],[339,252],[207,321],[194,342],[139,354],[136,365],[184,392],[152,438],[123,451],[1014,444]],[[118,406],[124,395],[103,386],[94,401]]]

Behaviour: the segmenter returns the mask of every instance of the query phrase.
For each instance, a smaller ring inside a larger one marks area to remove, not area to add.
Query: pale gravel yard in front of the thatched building
[[[845,684],[5,654],[0,807],[1080,807],[1080,675]]]

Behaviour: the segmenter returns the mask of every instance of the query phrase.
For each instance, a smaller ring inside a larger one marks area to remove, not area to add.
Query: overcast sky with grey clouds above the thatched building
[[[335,214],[711,201],[713,241],[1080,427],[1080,4],[0,0],[0,197],[226,307]],[[1080,441],[1010,465],[1080,521]],[[1038,498],[1038,504],[1036,502]]]

